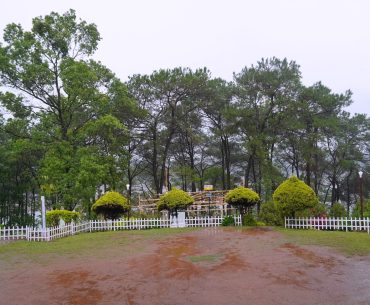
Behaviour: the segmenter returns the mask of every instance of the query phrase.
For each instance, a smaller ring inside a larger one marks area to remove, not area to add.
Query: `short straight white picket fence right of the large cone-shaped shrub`
[[[285,218],[285,228],[341,231],[367,231],[370,234],[369,218]]]

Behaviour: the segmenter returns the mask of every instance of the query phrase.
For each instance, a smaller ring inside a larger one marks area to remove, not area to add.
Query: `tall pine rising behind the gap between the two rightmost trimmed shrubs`
[[[261,195],[267,185],[267,197],[277,187],[271,173],[280,125],[286,118],[288,105],[294,103],[300,87],[299,66],[288,60],[262,59],[256,66],[234,74],[237,88],[239,128],[244,134],[248,161],[245,184]],[[265,190],[265,191],[266,191]]]

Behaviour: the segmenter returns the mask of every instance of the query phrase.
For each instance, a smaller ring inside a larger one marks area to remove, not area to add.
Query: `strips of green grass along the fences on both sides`
[[[230,227],[228,228],[231,229]],[[242,227],[236,230],[254,230],[255,228],[263,230],[265,227]],[[266,228],[271,229],[270,227]],[[0,258],[4,261],[21,257],[24,260],[41,262],[42,257],[47,255],[82,255],[92,250],[94,253],[98,253],[101,249],[107,247],[115,247],[124,252],[133,239],[158,241],[171,235],[202,229],[204,228],[162,228],[129,232],[96,232],[70,236],[48,243],[29,243],[19,240],[0,244]],[[333,250],[351,256],[370,255],[370,235],[364,232],[294,230],[281,227],[275,227],[273,230],[281,233],[287,241],[296,244],[330,247]],[[118,239],[119,242],[117,243]]]

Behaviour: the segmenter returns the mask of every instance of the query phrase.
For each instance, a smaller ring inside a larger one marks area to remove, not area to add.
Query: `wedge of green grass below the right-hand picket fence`
[[[294,230],[278,228],[290,242],[334,248],[346,255],[370,255],[370,234],[366,232]]]

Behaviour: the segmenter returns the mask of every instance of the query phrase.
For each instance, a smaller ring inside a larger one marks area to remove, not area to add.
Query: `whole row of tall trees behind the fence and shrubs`
[[[163,69],[120,81],[92,55],[99,32],[75,12],[10,24],[0,44],[0,223],[32,224],[48,208],[87,217],[108,190],[156,196],[245,185],[263,201],[287,177],[322,202],[370,188],[370,120],[351,92],[306,87],[287,59],[262,59],[232,82],[208,69]]]

